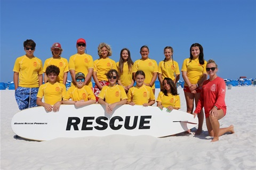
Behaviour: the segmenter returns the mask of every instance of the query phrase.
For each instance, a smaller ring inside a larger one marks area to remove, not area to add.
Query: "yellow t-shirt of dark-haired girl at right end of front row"
[[[160,101],[164,107],[177,107],[180,108],[180,96],[179,95],[172,95],[167,94],[168,96],[164,95],[163,91],[160,91],[156,101]]]

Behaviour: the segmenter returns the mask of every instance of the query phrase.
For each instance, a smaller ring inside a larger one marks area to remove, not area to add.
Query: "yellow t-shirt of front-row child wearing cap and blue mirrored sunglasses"
[[[64,96],[63,100],[72,99],[73,101],[88,101],[88,100],[96,100],[92,89],[89,86],[83,86],[81,89],[77,88],[76,86],[71,86],[66,95]]]

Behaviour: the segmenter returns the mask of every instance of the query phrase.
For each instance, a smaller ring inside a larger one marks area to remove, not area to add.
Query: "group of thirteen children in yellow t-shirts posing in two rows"
[[[158,65],[155,60],[149,58],[147,46],[140,48],[141,58],[134,63],[131,60],[130,50],[123,48],[120,60],[116,63],[109,58],[112,51],[106,43],[100,43],[99,58],[93,61],[92,56],[85,53],[86,41],[80,38],[76,43],[77,53],[70,56],[69,62],[61,57],[61,45],[54,43],[51,47],[53,56],[44,62],[44,67],[42,67],[42,61],[34,56],[35,42],[26,40],[23,46],[26,55],[17,58],[13,69],[15,98],[20,110],[38,105],[44,106],[47,112],[58,112],[61,104],[74,104],[76,107],[81,107],[98,102],[106,106],[108,113],[112,113],[117,105],[147,107],[153,105],[155,101],[159,108],[166,107],[167,111],[180,108],[180,98],[175,86],[180,78],[180,71],[178,63],[173,61],[173,49],[170,46],[164,48],[165,58]],[[193,105],[194,99],[197,106],[207,77],[206,71],[208,71],[201,45],[193,44],[190,47],[190,58],[183,62],[181,71],[186,85],[184,92],[187,112],[192,114],[193,108],[190,109],[190,106]],[[68,72],[70,72],[72,83],[66,91]],[[43,73],[45,73],[44,77]],[[94,87],[92,87],[92,77],[95,82]],[[161,91],[155,99],[157,77],[161,83]],[[134,83],[136,83],[135,86]],[[196,109],[199,133],[202,131],[202,116],[199,116],[202,106]],[[215,107],[217,106],[214,105]],[[217,108],[224,111],[223,116],[226,114],[225,108],[223,101]]]

